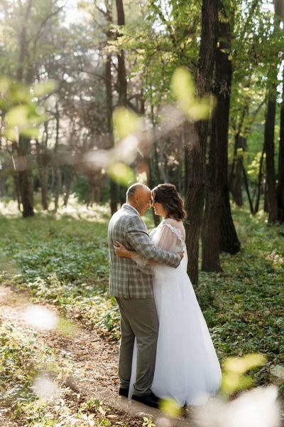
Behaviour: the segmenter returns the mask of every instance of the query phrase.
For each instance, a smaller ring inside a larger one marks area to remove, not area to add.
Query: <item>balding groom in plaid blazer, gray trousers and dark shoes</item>
[[[158,316],[153,297],[153,275],[136,267],[129,258],[114,253],[116,241],[148,260],[177,268],[182,253],[163,251],[153,245],[141,215],[151,206],[151,190],[133,184],[126,193],[126,204],[109,222],[109,294],[116,297],[121,314],[119,378],[121,396],[129,396],[134,339],[137,342],[136,381],[132,399],[158,408],[158,397],[151,391],[158,339]],[[166,374],[166,373],[165,373]]]

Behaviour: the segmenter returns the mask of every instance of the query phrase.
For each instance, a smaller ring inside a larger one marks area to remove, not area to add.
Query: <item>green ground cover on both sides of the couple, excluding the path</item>
[[[12,204],[2,209],[2,283],[118,339],[119,312],[107,292],[108,208],[71,199],[68,209],[26,219]],[[267,360],[251,373],[255,384],[273,382],[283,391],[284,227],[269,226],[263,212],[234,209],[233,216],[242,251],[221,255],[223,273],[200,273],[197,298],[219,359],[261,352]],[[146,223],[153,227],[150,213]]]

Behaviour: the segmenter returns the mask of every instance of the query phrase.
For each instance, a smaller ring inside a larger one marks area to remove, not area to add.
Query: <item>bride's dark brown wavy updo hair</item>
[[[182,221],[187,217],[183,200],[173,184],[159,184],[152,190],[152,197],[163,205],[167,218]]]

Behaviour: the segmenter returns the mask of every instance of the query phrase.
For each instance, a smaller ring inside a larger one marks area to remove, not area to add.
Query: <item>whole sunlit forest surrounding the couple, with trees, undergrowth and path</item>
[[[259,391],[263,427],[280,425],[284,1],[0,5],[0,426],[193,426],[116,396],[107,226],[135,182],[185,201],[220,413]]]

